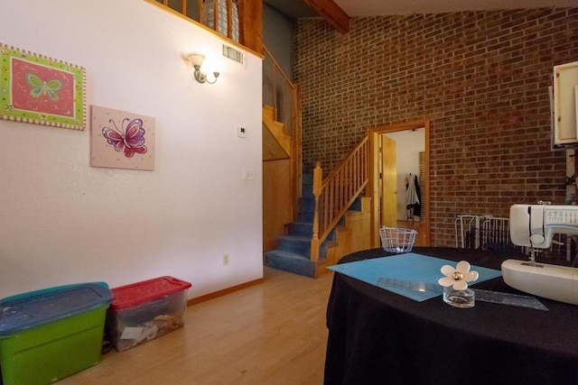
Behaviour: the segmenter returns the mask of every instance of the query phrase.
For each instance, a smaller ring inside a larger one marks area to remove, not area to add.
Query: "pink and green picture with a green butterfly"
[[[84,68],[0,43],[0,118],[85,130]]]

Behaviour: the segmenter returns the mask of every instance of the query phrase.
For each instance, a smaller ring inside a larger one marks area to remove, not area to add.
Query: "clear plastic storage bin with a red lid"
[[[107,337],[118,352],[182,326],[191,283],[164,276],[112,289]]]

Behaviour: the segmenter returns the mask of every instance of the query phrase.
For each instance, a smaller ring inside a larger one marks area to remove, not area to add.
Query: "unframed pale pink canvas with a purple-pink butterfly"
[[[154,170],[154,117],[92,105],[90,166]]]

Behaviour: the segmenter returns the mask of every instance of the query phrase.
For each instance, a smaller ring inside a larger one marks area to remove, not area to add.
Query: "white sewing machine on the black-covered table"
[[[502,262],[502,277],[514,289],[578,305],[578,268],[536,263],[536,249],[552,244],[554,234],[578,234],[578,206],[513,205],[509,209],[512,243],[531,248],[530,261]]]

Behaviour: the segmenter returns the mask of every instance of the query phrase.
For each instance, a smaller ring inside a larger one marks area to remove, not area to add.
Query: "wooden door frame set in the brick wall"
[[[378,127],[368,129],[368,138],[369,138],[369,181],[368,181],[368,191],[371,194],[371,247],[378,248],[380,247],[380,239],[379,239],[379,205],[380,205],[380,198],[379,198],[379,138],[378,135],[383,133],[396,133],[398,131],[407,131],[407,130],[417,130],[423,128],[424,129],[424,141],[425,141],[425,154],[424,154],[424,187],[422,188],[422,195],[424,196],[424,200],[427,202],[422,209],[424,211],[424,228],[425,236],[424,242],[425,245],[430,245],[430,223],[432,220],[431,217],[431,206],[432,200],[430,197],[430,121],[429,119],[422,119],[422,120],[415,120],[406,123],[400,124],[387,124],[381,125]]]

